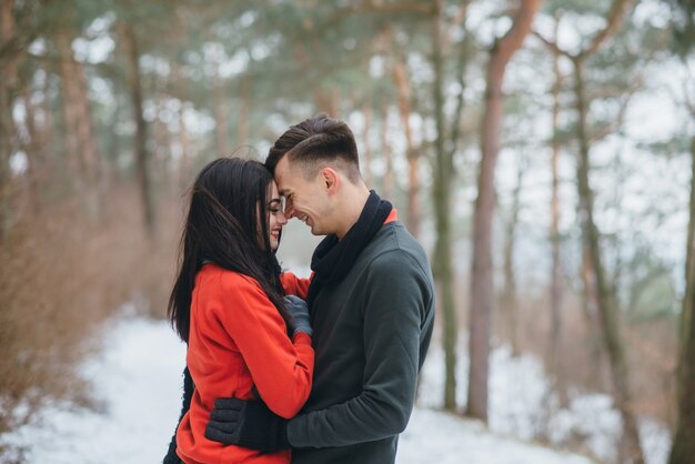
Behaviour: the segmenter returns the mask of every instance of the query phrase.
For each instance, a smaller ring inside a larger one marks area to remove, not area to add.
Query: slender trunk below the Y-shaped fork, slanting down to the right
[[[618,311],[615,295],[608,284],[602,265],[600,233],[594,221],[593,191],[588,183],[590,158],[588,135],[586,133],[586,102],[583,81],[583,62],[574,60],[575,98],[577,110],[577,139],[580,142],[580,158],[577,160],[577,186],[580,198],[580,218],[584,246],[587,248],[596,279],[596,303],[603,330],[603,337],[611,365],[616,406],[623,420],[623,445],[632,463],[643,464],[642,447],[637,422],[632,411],[629,393],[629,375],[625,360],[624,347],[621,341],[618,326]]]

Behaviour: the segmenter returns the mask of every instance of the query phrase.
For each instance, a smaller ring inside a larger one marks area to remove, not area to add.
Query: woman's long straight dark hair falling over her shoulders
[[[268,233],[272,180],[263,164],[239,158],[212,161],[198,174],[181,236],[179,274],[168,307],[171,324],[184,342],[189,341],[195,274],[203,261],[258,281],[289,323],[282,304],[280,264]]]

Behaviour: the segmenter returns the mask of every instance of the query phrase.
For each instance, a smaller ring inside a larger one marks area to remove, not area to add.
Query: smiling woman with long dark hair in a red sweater
[[[195,180],[169,302],[195,385],[175,435],[187,464],[290,462],[289,450],[261,454],[204,436],[218,397],[260,400],[288,418],[309,397],[309,312],[302,300],[283,301],[282,284],[305,294],[308,282],[281,279],[275,258],[286,222],[278,186],[259,162],[219,159]]]

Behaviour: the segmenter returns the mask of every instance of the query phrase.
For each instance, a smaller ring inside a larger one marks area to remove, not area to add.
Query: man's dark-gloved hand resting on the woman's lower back
[[[288,421],[260,401],[216,399],[205,427],[205,438],[273,453],[289,450]]]

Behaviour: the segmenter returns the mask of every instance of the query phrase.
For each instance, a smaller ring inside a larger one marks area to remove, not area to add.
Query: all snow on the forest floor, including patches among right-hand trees
[[[104,325],[102,350],[82,366],[99,407],[50,404],[31,423],[0,443],[20,450],[29,464],[141,464],[160,462],[180,411],[184,345],[164,321],[122,312]],[[465,365],[462,360],[462,369]],[[546,427],[554,443],[574,433],[588,435],[588,451],[601,458],[614,452],[620,418],[605,396],[576,399],[570,411],[547,416],[546,381],[531,356],[513,359],[496,350],[491,372],[491,430],[439,411],[442,353],[435,344],[425,364],[419,405],[399,446],[399,464],[590,464],[587,457],[553,451],[531,440]],[[463,379],[463,376],[460,376]],[[465,392],[464,386],[459,391]],[[662,464],[668,436],[643,424],[649,464]],[[19,461],[19,454],[0,462]]]

